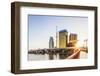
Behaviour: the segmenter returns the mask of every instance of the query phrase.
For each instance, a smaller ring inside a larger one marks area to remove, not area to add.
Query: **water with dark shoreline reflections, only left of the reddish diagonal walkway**
[[[38,53],[32,52],[28,54],[28,60],[60,60],[66,59],[73,53],[73,50],[60,50],[60,51],[41,51]]]

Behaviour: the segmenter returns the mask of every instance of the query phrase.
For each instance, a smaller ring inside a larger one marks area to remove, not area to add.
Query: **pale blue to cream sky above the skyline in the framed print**
[[[49,48],[50,36],[56,46],[57,32],[66,29],[78,35],[78,45],[88,38],[88,17],[28,15],[29,50]]]

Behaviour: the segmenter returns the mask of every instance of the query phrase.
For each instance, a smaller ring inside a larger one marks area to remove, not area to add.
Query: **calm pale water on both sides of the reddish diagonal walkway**
[[[70,54],[28,54],[28,60],[60,60],[66,59]],[[81,51],[80,52],[80,59],[87,58],[87,53]]]

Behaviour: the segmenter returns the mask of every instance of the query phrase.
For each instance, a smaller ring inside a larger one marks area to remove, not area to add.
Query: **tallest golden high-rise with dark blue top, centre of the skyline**
[[[59,48],[66,48],[68,43],[68,32],[67,30],[59,31]]]

